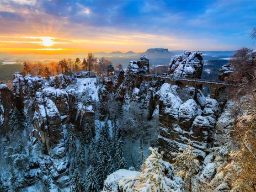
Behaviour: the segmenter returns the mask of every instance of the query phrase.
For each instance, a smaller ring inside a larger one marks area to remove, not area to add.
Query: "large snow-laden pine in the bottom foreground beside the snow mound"
[[[170,163],[162,160],[163,152],[149,148],[151,155],[146,159],[139,176],[119,181],[122,192],[182,192],[182,180],[174,176]]]

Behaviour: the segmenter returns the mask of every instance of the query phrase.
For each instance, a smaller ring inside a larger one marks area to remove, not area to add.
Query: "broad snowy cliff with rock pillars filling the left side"
[[[18,131],[29,135],[25,139],[27,144],[33,143],[30,150],[43,153],[28,160],[33,166],[26,168],[26,173],[33,174],[29,181],[23,176],[27,184],[22,187],[37,181],[40,174],[61,188],[67,187],[70,181],[67,133],[71,131],[82,138],[88,138],[90,133],[91,139],[95,136],[95,112],[91,103],[99,101],[101,88],[96,86],[96,78],[59,75],[45,79],[20,73],[15,73],[13,78],[12,90],[0,85],[1,135],[13,137],[11,124],[17,123],[14,116],[17,112],[24,120]],[[90,130],[85,130],[88,127]],[[40,144],[45,149],[37,149]]]

